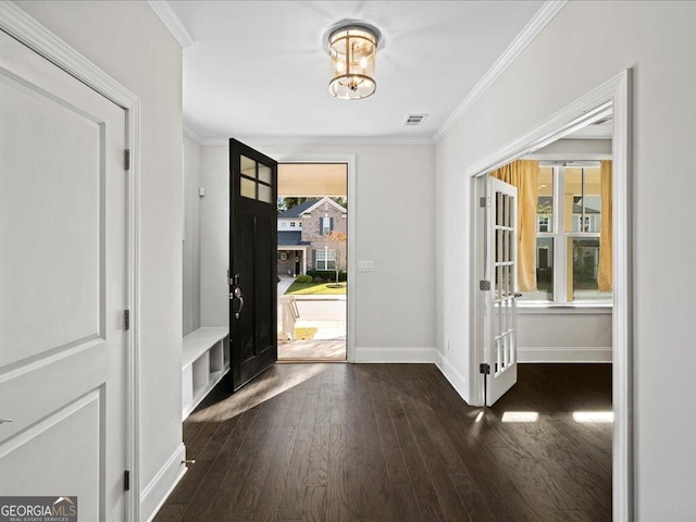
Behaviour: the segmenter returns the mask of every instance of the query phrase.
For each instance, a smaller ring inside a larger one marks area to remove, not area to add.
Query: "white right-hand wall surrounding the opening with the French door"
[[[696,351],[688,315],[696,176],[695,2],[569,2],[436,147],[437,347],[465,375],[470,200],[467,167],[626,67],[634,71],[633,285],[638,520],[693,520]],[[669,204],[666,207],[666,202]],[[683,225],[682,225],[683,224]],[[670,252],[663,256],[663,252]],[[669,261],[669,264],[668,264]],[[670,276],[682,274],[682,276]],[[444,276],[447,276],[446,278]],[[445,340],[450,339],[450,351]]]

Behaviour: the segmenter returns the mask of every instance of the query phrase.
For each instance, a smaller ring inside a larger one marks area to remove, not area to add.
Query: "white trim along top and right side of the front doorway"
[[[357,194],[356,154],[271,154],[278,163],[346,163],[348,165],[348,204]],[[356,296],[358,294],[356,263],[356,206],[348,209],[348,281],[350,289],[346,296],[346,360],[356,362]]]

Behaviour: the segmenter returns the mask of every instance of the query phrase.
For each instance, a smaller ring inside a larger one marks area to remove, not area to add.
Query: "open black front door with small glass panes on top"
[[[234,389],[277,359],[277,163],[229,139],[229,333]]]

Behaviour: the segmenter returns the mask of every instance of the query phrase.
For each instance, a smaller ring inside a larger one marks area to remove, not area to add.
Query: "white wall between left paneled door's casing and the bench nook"
[[[140,99],[140,324],[134,327],[140,493],[148,485],[156,490],[151,482],[167,461],[181,465],[182,50],[145,2],[17,4]]]

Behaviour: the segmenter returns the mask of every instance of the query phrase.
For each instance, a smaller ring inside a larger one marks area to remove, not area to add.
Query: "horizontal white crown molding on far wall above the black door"
[[[190,130],[186,125],[184,133],[203,147],[225,147],[229,145],[229,137],[201,137],[197,139],[195,136],[200,135]],[[385,145],[435,145],[431,136],[235,136],[239,141],[244,141],[252,147],[326,147],[326,146],[385,146]]]

